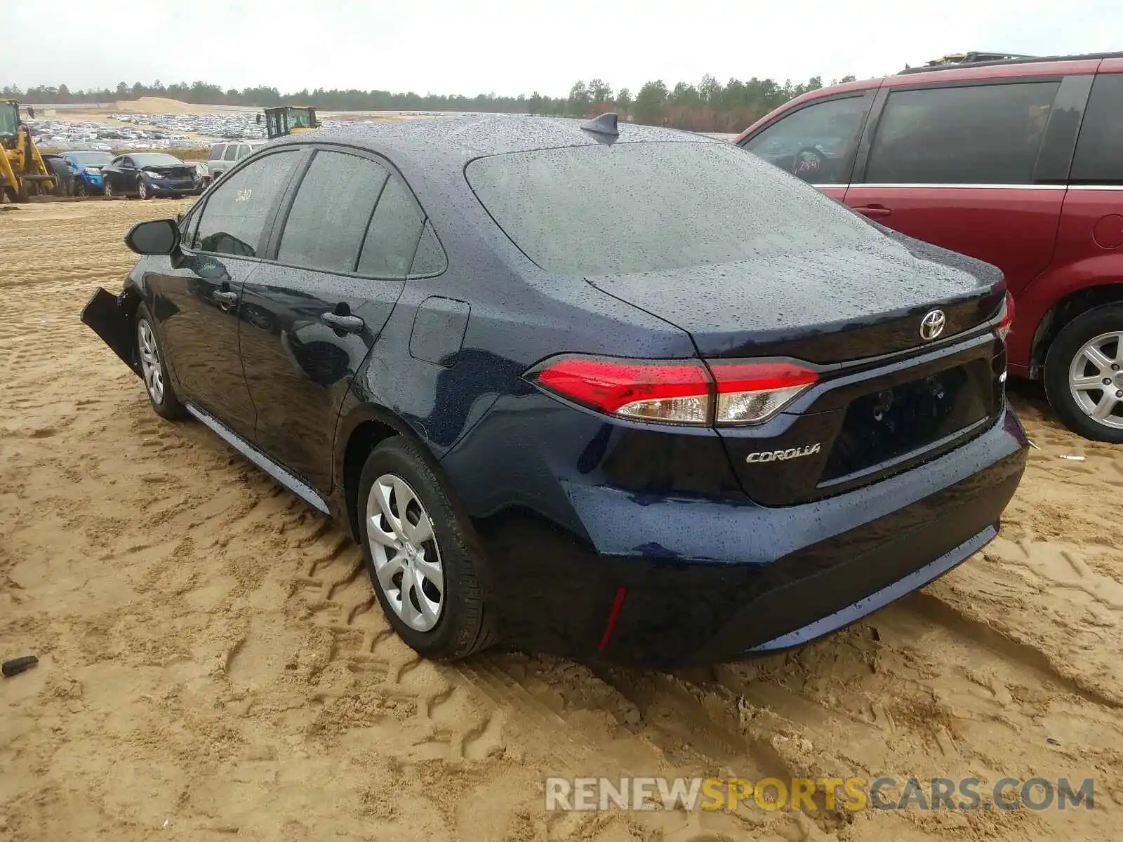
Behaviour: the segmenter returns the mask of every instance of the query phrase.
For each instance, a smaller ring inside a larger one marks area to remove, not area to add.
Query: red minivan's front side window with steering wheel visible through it
[[[868,108],[861,94],[805,106],[743,146],[810,184],[846,184]]]

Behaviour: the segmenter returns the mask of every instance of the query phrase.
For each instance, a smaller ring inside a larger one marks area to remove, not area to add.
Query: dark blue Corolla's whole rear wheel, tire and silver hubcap
[[[491,646],[483,557],[429,460],[404,438],[383,441],[363,466],[356,505],[371,584],[399,637],[449,660]]]

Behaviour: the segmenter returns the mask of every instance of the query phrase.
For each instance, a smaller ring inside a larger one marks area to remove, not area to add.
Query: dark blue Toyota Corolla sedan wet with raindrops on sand
[[[422,655],[797,646],[986,544],[1024,468],[1001,274],[696,135],[321,129],[127,242],[83,321],[348,524]]]

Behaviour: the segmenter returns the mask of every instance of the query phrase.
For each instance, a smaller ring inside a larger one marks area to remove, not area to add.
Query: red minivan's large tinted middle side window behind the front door
[[[1030,184],[1059,82],[894,91],[870,184]]]

